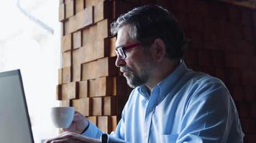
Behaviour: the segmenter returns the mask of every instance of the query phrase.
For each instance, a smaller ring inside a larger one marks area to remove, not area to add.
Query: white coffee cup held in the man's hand
[[[74,107],[52,107],[51,117],[55,127],[68,128],[73,121]]]

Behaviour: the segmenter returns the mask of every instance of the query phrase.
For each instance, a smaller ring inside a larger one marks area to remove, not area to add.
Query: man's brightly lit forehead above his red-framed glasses
[[[132,43],[132,39],[129,36],[130,26],[122,26],[117,32],[116,47],[125,46]]]

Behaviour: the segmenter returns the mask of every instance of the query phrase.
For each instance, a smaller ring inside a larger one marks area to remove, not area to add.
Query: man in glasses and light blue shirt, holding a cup
[[[104,134],[77,113],[69,132],[53,141],[243,142],[227,87],[187,69],[188,42],[172,14],[160,6],[135,8],[111,24],[111,32],[117,34],[116,66],[134,88],[116,131]]]

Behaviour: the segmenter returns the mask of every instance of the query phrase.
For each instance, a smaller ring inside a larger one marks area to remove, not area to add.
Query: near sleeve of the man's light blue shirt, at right
[[[236,112],[224,85],[205,84],[189,99],[175,142],[227,142]],[[242,137],[234,138],[237,138],[236,142],[242,142]]]

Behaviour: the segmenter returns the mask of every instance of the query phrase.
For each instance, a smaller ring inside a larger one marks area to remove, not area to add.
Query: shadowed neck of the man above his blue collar
[[[163,61],[157,62],[155,68],[152,69],[151,77],[145,84],[145,86],[152,92],[152,89],[159,82],[163,81],[169,74],[171,74],[176,67],[180,64],[180,59],[170,60],[165,58]]]

